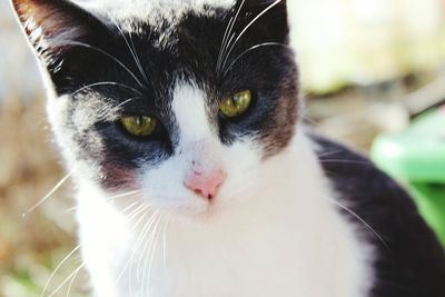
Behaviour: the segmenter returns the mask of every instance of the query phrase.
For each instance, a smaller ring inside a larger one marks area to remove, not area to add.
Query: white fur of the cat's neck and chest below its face
[[[367,296],[372,248],[332,204],[315,154],[297,138],[268,161],[254,200],[200,220],[170,217],[157,231],[155,217],[151,237],[81,187],[80,238],[98,297]]]

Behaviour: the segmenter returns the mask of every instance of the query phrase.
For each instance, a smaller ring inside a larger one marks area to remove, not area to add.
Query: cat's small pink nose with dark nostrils
[[[215,198],[219,186],[221,186],[225,180],[226,172],[222,170],[215,170],[206,174],[194,171],[185,178],[184,184],[197,195],[211,200]]]

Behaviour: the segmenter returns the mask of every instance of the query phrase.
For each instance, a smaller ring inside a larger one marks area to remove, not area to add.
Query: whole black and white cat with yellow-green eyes
[[[407,195],[305,131],[285,0],[12,2],[97,296],[445,296]]]

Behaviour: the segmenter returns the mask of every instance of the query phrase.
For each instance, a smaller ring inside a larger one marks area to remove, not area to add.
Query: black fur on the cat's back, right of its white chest
[[[376,248],[370,297],[445,296],[445,251],[409,196],[366,158],[320,137],[320,164],[340,202],[383,238],[345,212]]]

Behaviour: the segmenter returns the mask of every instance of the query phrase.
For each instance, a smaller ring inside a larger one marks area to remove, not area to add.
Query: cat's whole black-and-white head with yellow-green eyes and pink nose
[[[132,17],[13,2],[78,178],[192,212],[261,189],[297,121],[285,0],[151,1]]]

